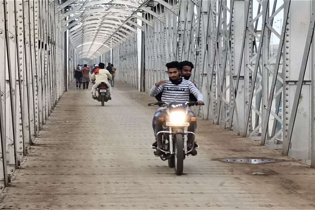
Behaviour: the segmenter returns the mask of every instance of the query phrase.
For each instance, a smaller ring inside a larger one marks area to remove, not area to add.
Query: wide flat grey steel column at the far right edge
[[[293,1],[292,6],[290,8],[290,17],[294,17],[295,15],[299,15],[299,20],[294,18],[289,18],[289,27],[287,30],[289,31],[289,37],[287,37],[287,45],[286,48],[292,50],[288,51],[289,56],[286,56],[287,67],[286,76],[285,76],[285,90],[284,93],[285,99],[289,98],[289,105],[285,103],[285,113],[286,117],[290,116],[289,120],[286,119],[286,123],[289,122],[289,125],[286,126],[286,135],[283,142],[283,153],[285,155],[292,156],[297,159],[310,159],[310,130],[311,124],[310,119],[310,90],[311,90],[311,73],[310,73],[310,65],[308,64],[308,57],[311,48],[312,38],[314,35],[314,27],[315,27],[315,8],[311,7],[311,2],[309,1]],[[298,4],[298,5],[297,5]],[[305,9],[304,13],[298,12],[301,8],[311,8],[310,12]],[[311,14],[311,15],[310,15]],[[310,19],[311,16],[311,19]],[[301,21],[306,24],[301,24]],[[307,24],[308,23],[308,24]],[[308,30],[307,30],[307,25]],[[307,30],[307,33],[306,33]],[[303,33],[304,32],[304,33]],[[301,40],[301,33],[307,34],[306,38]],[[291,40],[299,40],[299,42],[291,42]],[[305,40],[305,41],[304,41]],[[305,43],[304,50],[302,52],[301,43]],[[301,58],[302,55],[302,58]],[[290,58],[290,59],[287,59]],[[301,59],[301,63],[300,63]],[[300,68],[299,74],[296,69]],[[307,70],[307,71],[306,71]],[[306,78],[305,78],[306,76]],[[297,80],[296,80],[297,79]],[[292,81],[293,80],[293,81]],[[292,84],[293,82],[293,84]],[[304,87],[302,88],[302,86]],[[292,97],[294,95],[294,100],[292,101]],[[299,111],[298,111],[299,109]],[[291,111],[289,111],[291,110]],[[290,113],[290,115],[289,115]],[[293,130],[295,128],[295,130]],[[301,138],[301,135],[302,138]]]

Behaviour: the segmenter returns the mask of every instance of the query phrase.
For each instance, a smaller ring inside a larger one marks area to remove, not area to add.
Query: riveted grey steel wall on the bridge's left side
[[[0,57],[0,190],[28,155],[65,90],[65,63],[60,62],[65,58],[64,21],[55,14],[56,4],[1,4],[0,49],[5,53]],[[67,67],[74,66],[69,62]]]

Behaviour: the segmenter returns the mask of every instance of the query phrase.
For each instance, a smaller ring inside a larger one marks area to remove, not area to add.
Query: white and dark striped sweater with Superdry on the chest
[[[196,86],[189,80],[183,79],[178,85],[173,84],[169,79],[160,86],[153,86],[150,90],[150,96],[154,97],[162,92],[162,101],[171,102],[187,102],[189,101],[189,93],[192,93],[198,101],[203,101],[203,96]]]

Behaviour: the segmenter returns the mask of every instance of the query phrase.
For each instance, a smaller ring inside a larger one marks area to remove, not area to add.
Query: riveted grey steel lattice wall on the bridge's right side
[[[315,4],[180,0],[172,7],[178,16],[157,4],[162,21],[146,18],[154,27],[142,26],[145,62],[133,62],[134,36],[113,48],[117,78],[138,88],[134,75],[145,64],[149,91],[167,77],[165,63],[189,60],[205,96],[200,116],[314,167]]]

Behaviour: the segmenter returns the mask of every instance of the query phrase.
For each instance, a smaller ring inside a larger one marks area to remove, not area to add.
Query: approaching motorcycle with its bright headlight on
[[[190,122],[196,122],[196,117],[189,115],[189,106],[197,105],[196,102],[157,102],[150,103],[148,106],[159,105],[166,107],[165,117],[157,119],[163,122],[163,130],[157,132],[162,135],[162,145],[157,141],[157,148],[163,152],[160,156],[161,160],[168,160],[169,167],[174,167],[176,175],[183,173],[184,159],[195,148],[195,133],[189,132]],[[187,147],[188,134],[193,135],[191,148]]]

